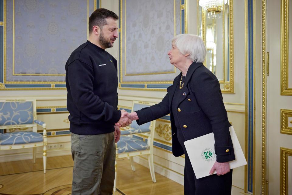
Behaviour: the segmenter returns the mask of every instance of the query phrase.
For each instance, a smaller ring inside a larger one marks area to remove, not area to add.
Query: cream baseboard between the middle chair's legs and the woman
[[[145,160],[139,156],[134,157],[134,162],[137,162],[138,164],[149,168],[148,160]],[[154,171],[156,173],[159,173],[162,176],[167,177],[168,179],[171,179],[172,181],[175,181],[175,182],[183,185],[183,180],[184,180],[183,175],[180,175],[177,172],[174,172],[170,169],[164,168],[164,167],[157,165],[157,164],[154,164]],[[149,171],[149,175],[150,175],[150,171]]]

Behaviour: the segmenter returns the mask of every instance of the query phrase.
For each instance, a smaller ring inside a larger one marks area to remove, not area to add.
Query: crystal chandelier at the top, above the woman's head
[[[228,0],[224,0],[224,3],[228,3]],[[208,16],[211,13],[215,18],[223,10],[223,0],[200,0],[199,5],[208,12]]]

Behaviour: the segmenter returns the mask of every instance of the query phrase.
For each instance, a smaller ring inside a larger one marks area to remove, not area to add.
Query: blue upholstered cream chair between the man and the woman
[[[132,112],[154,104],[153,102],[133,101]],[[154,120],[139,126],[134,120],[130,126],[121,129],[120,141],[116,143],[116,159],[129,157],[133,171],[135,171],[133,157],[139,155],[148,156],[149,169],[153,183],[156,183],[153,164],[155,122]],[[115,165],[117,174],[117,164]],[[116,191],[116,175],[113,189]]]

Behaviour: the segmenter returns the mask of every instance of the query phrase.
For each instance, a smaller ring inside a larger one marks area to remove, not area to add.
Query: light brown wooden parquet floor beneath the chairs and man
[[[119,159],[117,188],[114,195],[183,194],[183,186],[158,173],[157,183],[151,180],[148,168],[135,163],[130,168],[128,159]],[[47,173],[43,174],[43,161],[37,159],[0,163],[0,194],[58,195],[71,194],[73,161],[71,155],[48,157]]]

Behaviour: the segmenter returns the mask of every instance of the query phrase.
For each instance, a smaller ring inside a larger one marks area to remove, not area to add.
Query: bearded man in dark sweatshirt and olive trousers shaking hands
[[[66,63],[67,108],[74,161],[72,195],[112,194],[115,142],[131,121],[117,110],[117,61],[106,48],[118,37],[117,16],[97,9],[89,17],[89,39]]]

